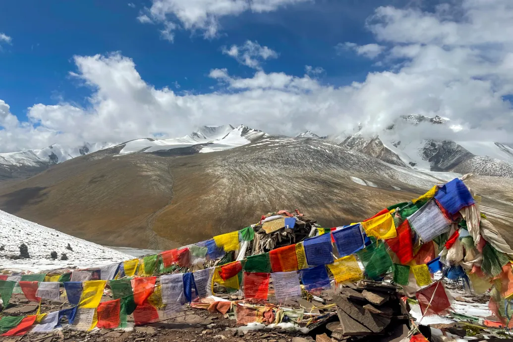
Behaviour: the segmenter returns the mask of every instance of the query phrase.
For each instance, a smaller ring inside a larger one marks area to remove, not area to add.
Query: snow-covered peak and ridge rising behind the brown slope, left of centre
[[[194,147],[196,152],[206,153],[246,145],[265,135],[266,133],[262,131],[251,129],[244,125],[240,125],[236,128],[231,125],[216,127],[203,126],[181,138],[143,138],[130,140],[118,146],[122,147],[120,154],[162,152],[189,147]]]

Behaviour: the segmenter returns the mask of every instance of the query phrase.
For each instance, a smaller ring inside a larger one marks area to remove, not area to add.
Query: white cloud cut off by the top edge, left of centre
[[[152,0],[147,9],[148,19],[162,24],[173,23],[175,28],[202,31],[205,38],[215,37],[219,21],[246,11],[272,12],[287,5],[312,0]]]

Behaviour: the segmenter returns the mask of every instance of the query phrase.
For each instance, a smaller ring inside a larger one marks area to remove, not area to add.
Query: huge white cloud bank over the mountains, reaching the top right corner
[[[447,6],[433,12],[378,8],[366,25],[376,44],[387,45],[382,57],[389,70],[346,86],[323,84],[313,77],[314,68],[302,76],[255,70],[246,78],[212,69],[207,76],[218,82],[214,92],[178,94],[145,82],[132,59],[119,53],[75,56],[73,75],[91,89],[88,105],[36,104],[28,120],[18,122],[2,101],[0,149],[121,143],[226,123],[287,135],[311,127],[322,135],[352,131],[361,123],[373,134],[409,114],[450,122],[398,126],[402,138],[513,143],[507,100],[513,95],[513,4],[464,0]]]

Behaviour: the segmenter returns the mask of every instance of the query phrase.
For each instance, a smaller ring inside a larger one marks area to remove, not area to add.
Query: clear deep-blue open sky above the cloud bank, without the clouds
[[[170,43],[156,25],[136,20],[151,2],[2,2],[0,32],[12,37],[12,45],[4,45],[0,54],[0,98],[21,119],[36,103],[65,99],[83,104],[89,91],[68,77],[75,70],[72,57],[112,51],[132,58],[143,79],[157,88],[173,87],[176,81],[182,91],[210,92],[216,82],[205,76],[212,68],[251,76],[251,68],[221,53],[221,46],[240,45],[247,39],[280,54],[264,65],[267,72],[301,76],[305,65],[311,65],[326,70],[326,83],[363,81],[376,69],[373,62],[356,54],[337,55],[334,46],[346,41],[372,43],[365,19],[387,2],[344,3],[307,2],[265,14],[246,12],[223,18],[218,37],[204,39],[201,32],[177,30]]]

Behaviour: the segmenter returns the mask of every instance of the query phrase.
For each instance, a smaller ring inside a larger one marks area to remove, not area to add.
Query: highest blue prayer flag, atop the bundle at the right
[[[474,204],[474,199],[463,181],[459,178],[452,179],[449,183],[438,189],[435,199],[451,215],[456,214],[461,208]]]

